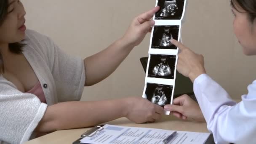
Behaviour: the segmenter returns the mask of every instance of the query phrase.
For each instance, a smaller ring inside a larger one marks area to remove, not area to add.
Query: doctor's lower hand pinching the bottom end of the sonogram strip
[[[173,100],[173,104],[165,105],[165,110],[183,120],[192,119],[197,122],[205,121],[199,105],[188,95],[182,95]]]

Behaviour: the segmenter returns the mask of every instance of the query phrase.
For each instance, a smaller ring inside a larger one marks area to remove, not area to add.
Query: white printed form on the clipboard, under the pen
[[[174,131],[136,128],[116,125],[104,125],[101,131],[92,137],[80,140],[86,144],[162,144],[163,140]],[[204,144],[210,133],[177,131],[168,144]]]

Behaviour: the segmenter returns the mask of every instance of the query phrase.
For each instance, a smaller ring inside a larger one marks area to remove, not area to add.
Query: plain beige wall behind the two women
[[[51,37],[67,53],[83,58],[123,35],[134,16],[155,0],[23,0],[27,27]],[[205,56],[208,74],[234,98],[256,79],[254,57],[242,54],[232,32],[229,0],[189,0],[182,29],[184,44]],[[82,100],[141,96],[149,35],[106,80],[85,88]]]

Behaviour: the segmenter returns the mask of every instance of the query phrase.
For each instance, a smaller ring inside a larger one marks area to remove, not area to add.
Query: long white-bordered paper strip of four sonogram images
[[[155,14],[149,59],[142,97],[163,107],[173,103],[178,51],[171,38],[181,40],[181,21],[187,0],[156,0],[160,11]],[[169,115],[170,112],[165,112]]]

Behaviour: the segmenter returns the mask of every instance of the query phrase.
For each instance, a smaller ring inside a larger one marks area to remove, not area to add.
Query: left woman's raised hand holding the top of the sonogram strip
[[[125,35],[122,37],[122,42],[132,47],[139,45],[148,32],[151,32],[155,21],[150,20],[154,14],[160,9],[159,6],[150,11],[142,13],[133,19]]]

